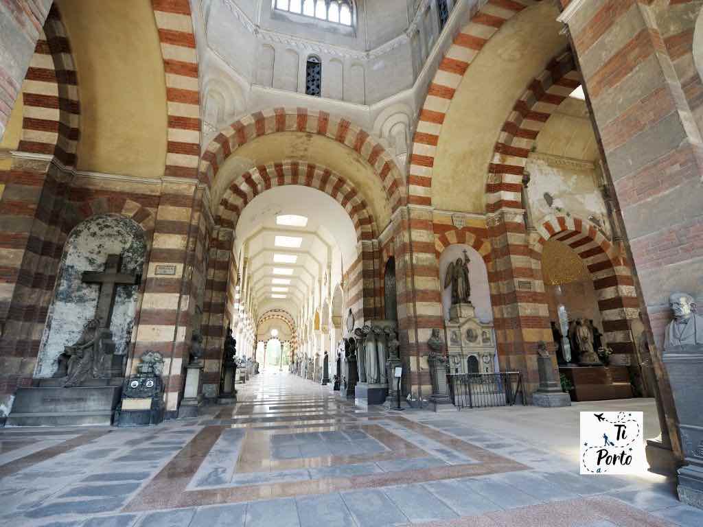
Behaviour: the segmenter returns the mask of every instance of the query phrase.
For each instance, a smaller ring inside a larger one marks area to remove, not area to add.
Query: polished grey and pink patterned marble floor
[[[237,405],[149,429],[1,430],[0,523],[703,525],[669,481],[579,476],[568,455],[522,440],[531,409],[366,411],[273,373],[238,389]],[[514,434],[481,426],[505,416]]]

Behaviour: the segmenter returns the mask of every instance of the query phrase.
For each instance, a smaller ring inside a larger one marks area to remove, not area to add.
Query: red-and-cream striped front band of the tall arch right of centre
[[[441,128],[471,63],[505,22],[535,3],[535,0],[487,1],[446,51],[430,83],[413,137],[408,176],[408,202],[411,204],[432,204],[432,168]]]

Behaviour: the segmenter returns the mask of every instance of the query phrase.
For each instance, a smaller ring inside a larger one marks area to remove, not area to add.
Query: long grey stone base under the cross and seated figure
[[[121,380],[119,386],[19,388],[6,424],[8,427],[64,427],[81,424],[109,427],[112,424],[112,412],[120,403]]]

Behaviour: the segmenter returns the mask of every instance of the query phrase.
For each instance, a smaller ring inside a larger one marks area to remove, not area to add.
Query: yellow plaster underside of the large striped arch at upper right
[[[557,15],[554,2],[524,9],[471,63],[444,118],[434,157],[432,204],[438,209],[484,212],[486,175],[503,122],[529,82],[568,44]]]

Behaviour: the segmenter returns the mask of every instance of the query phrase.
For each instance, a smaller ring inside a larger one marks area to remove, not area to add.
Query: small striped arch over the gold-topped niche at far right
[[[541,267],[547,240],[559,240],[574,249],[593,278],[605,341],[614,353],[634,353],[627,320],[637,318],[639,303],[626,261],[593,223],[574,216],[547,216],[537,226],[539,238],[531,247]]]

